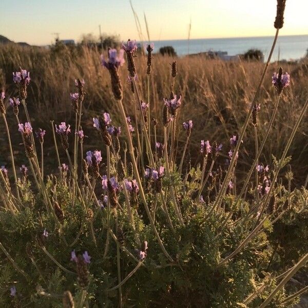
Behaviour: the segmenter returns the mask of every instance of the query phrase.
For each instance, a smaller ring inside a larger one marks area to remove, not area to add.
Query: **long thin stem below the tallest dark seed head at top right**
[[[239,135],[237,145],[236,145],[236,147],[234,149],[234,155],[233,155],[233,157],[232,157],[232,159],[230,161],[230,164],[229,164],[229,167],[228,167],[228,170],[227,170],[227,174],[225,175],[225,178],[224,178],[223,183],[222,183],[222,187],[220,188],[220,190],[218,192],[218,195],[216,197],[213,209],[215,209],[217,206],[220,205],[220,203],[222,201],[222,197],[225,194],[225,191],[226,191],[226,188],[227,188],[230,176],[232,174],[232,171],[234,169],[234,165],[235,165],[235,162],[236,162],[236,153],[238,153],[238,151],[239,151],[240,145],[241,145],[243,137],[244,137],[244,133],[245,133],[246,128],[247,128],[248,123],[249,123],[249,119],[251,118],[251,115],[252,115],[253,110],[254,110],[254,106],[255,106],[255,104],[257,102],[260,90],[262,88],[262,85],[263,85],[263,82],[264,82],[264,79],[265,79],[265,74],[267,72],[267,68],[269,66],[269,62],[271,61],[272,54],[273,54],[273,51],[274,51],[274,48],[275,48],[275,45],[276,45],[276,42],[277,42],[278,33],[279,33],[279,29],[276,30],[276,34],[275,34],[275,38],[274,38],[274,41],[273,41],[273,45],[272,45],[271,51],[269,52],[266,65],[264,67],[264,70],[263,70],[263,73],[262,73],[262,76],[261,76],[261,79],[260,79],[260,82],[259,82],[259,86],[257,88],[254,100],[253,100],[252,105],[251,105],[251,108],[249,109],[249,111],[247,113],[244,125],[243,125],[243,127],[241,129],[241,133]]]

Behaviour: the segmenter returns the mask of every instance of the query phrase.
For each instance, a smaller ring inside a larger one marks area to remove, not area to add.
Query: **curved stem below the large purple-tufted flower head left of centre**
[[[155,234],[155,237],[156,237],[156,239],[157,239],[157,241],[159,243],[160,248],[162,249],[162,252],[164,253],[164,255],[171,262],[173,262],[172,258],[167,253],[166,248],[164,247],[164,244],[163,244],[162,240],[160,239],[160,236],[159,236],[159,234],[157,232],[155,224],[154,224],[154,222],[152,220],[151,213],[150,213],[150,210],[148,208],[147,201],[146,201],[146,198],[145,198],[145,195],[144,195],[144,191],[143,191],[143,187],[142,187],[142,182],[141,182],[141,179],[140,179],[140,176],[139,176],[138,166],[137,166],[137,163],[136,163],[136,159],[134,157],[133,145],[132,145],[132,140],[131,140],[131,136],[130,136],[130,131],[129,131],[128,123],[126,121],[126,114],[125,114],[124,106],[123,106],[122,101],[118,101],[118,102],[119,102],[119,105],[120,105],[120,110],[121,110],[121,113],[122,113],[122,119],[123,119],[123,122],[124,122],[125,131],[126,131],[126,134],[127,134],[128,149],[129,149],[129,153],[130,153],[130,157],[131,157],[131,161],[132,161],[132,165],[133,165],[133,169],[134,169],[134,174],[136,176],[136,180],[137,180],[137,183],[139,185],[140,196],[141,196],[142,203],[144,205],[144,208],[146,210],[146,214],[147,214],[148,219],[150,221],[151,228],[152,228],[152,230],[153,230],[153,232]],[[153,166],[155,166],[155,164],[153,164]]]

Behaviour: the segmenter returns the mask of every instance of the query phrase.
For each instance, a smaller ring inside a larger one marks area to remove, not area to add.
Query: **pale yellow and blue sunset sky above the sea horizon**
[[[144,37],[150,40],[269,36],[275,34],[276,0],[132,0]],[[280,35],[308,34],[308,0],[287,0]],[[138,40],[129,0],[1,0],[0,34],[31,45],[60,39],[80,41],[82,34],[119,34]]]

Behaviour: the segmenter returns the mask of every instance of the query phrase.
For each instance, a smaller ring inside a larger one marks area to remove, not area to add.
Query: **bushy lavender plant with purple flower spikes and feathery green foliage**
[[[150,120],[152,44],[147,46],[147,103],[136,78],[136,41],[128,40],[119,52],[110,49],[108,60],[101,57],[121,123],[106,111],[92,118],[93,127],[87,130],[95,147],[84,151],[81,123],[87,84],[76,79],[78,92],[70,94],[74,133],[67,122],[52,122],[51,131],[37,128],[40,163],[26,103],[29,72],[13,73],[20,99],[10,98],[9,104],[28,162],[17,178],[6,126],[12,166],[0,169],[2,306],[274,308],[292,307],[298,301],[306,288],[290,293],[286,285],[308,261],[301,242],[307,237],[307,191],[291,190],[290,168],[287,187],[279,176],[291,159],[287,152],[308,99],[281,157],[273,157],[270,166],[260,159],[282,92],[290,86],[290,75],[282,68],[273,75],[277,101],[260,146],[256,129],[262,112],[259,94],[263,82],[270,82],[265,73],[283,25],[284,5],[278,0],[272,51],[242,129],[230,134],[228,145],[202,140],[196,168],[189,161],[195,126],[191,120],[182,125],[176,121],[182,106],[180,93],[174,92],[181,73],[176,62],[171,64],[168,99],[160,102],[162,118]],[[119,75],[124,52],[131,102],[123,95]],[[5,96],[2,92],[0,111],[7,123]],[[134,115],[127,114],[128,104],[134,104]],[[247,176],[238,182],[240,146],[251,118],[256,153]],[[163,136],[157,136],[159,125]],[[183,149],[177,146],[178,133],[186,136]],[[47,136],[54,140],[59,171],[46,176]],[[296,236],[290,236],[292,225]]]

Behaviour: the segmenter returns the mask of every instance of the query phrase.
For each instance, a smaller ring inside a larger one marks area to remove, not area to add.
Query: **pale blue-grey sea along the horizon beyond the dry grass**
[[[228,55],[236,55],[246,52],[248,49],[256,48],[262,50],[264,59],[269,54],[274,36],[264,37],[235,37],[235,38],[202,38],[189,41],[189,54],[204,51],[227,51]],[[173,46],[178,55],[188,54],[187,40],[154,41],[155,51],[163,46]],[[279,36],[273,53],[272,61],[296,60],[306,54],[308,49],[308,35]]]

